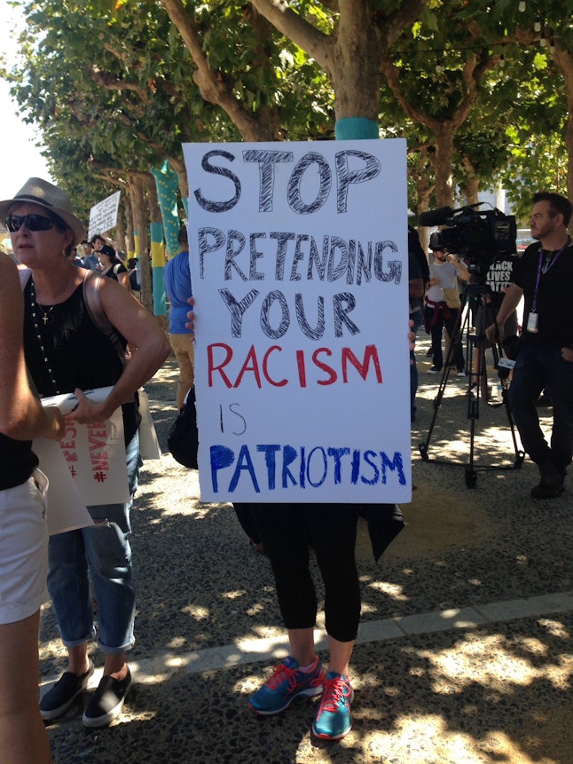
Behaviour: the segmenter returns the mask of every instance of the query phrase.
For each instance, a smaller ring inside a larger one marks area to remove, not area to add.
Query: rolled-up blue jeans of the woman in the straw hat
[[[48,590],[67,648],[87,642],[95,634],[88,571],[98,601],[99,647],[105,653],[119,654],[135,642],[129,538],[130,509],[141,465],[137,433],[127,445],[126,455],[130,500],[88,507],[95,525],[50,539]]]

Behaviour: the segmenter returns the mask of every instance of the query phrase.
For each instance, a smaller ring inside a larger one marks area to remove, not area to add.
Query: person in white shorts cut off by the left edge
[[[0,751],[13,764],[48,764],[38,713],[38,626],[48,598],[46,478],[32,438],[59,440],[64,421],[27,383],[16,266],[0,254]]]

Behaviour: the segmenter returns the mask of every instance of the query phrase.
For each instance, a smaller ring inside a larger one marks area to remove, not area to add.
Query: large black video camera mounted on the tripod
[[[475,209],[482,204],[478,201],[459,209],[430,209],[418,217],[418,223],[451,226],[430,235],[430,248],[447,247],[468,261],[471,273],[485,279],[494,260],[516,256],[517,224],[514,215],[499,209]]]

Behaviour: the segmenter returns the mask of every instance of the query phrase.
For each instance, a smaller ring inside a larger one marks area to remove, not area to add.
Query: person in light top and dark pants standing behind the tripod
[[[428,374],[442,371],[442,332],[445,327],[450,342],[454,343],[451,348],[453,363],[458,369],[458,376],[463,377],[466,376],[466,362],[461,344],[455,340],[454,333],[461,307],[458,279],[469,281],[469,271],[465,264],[448,252],[447,247],[436,245],[433,252],[434,262],[429,266],[430,286],[424,311],[424,324],[427,334],[432,338],[434,356],[434,366],[428,369]]]

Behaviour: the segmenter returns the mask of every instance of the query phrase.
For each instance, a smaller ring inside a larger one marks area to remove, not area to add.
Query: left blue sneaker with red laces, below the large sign
[[[299,695],[312,697],[320,695],[325,681],[325,670],[316,659],[317,665],[309,673],[298,671],[298,663],[288,656],[285,662],[275,666],[269,681],[257,689],[249,698],[248,705],[255,713],[271,716],[288,708]]]

